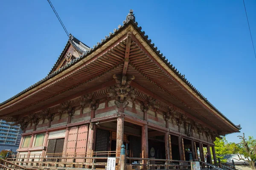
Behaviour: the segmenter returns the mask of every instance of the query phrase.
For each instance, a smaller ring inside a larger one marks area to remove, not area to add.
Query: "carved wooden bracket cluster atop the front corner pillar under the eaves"
[[[135,79],[134,76],[121,76],[121,75],[113,75],[113,78],[116,82],[116,85],[109,89],[108,96],[115,96],[115,105],[117,108],[120,108],[120,104],[122,103],[122,107],[126,108],[129,104],[127,101],[128,98],[135,99],[136,90],[131,87],[131,81]]]

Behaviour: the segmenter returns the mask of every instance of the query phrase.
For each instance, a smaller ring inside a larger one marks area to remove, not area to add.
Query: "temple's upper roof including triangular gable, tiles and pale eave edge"
[[[148,35],[145,35],[145,31],[141,31],[142,28],[138,27],[138,23],[135,21],[135,16],[133,14],[133,11],[130,10],[130,13],[126,16],[126,19],[123,21],[123,25],[119,25],[118,28],[113,30],[113,33],[110,32],[108,36],[105,36],[105,39],[102,39],[100,42],[97,42],[96,45],[93,45],[93,48],[89,48],[87,45],[70,35],[69,41],[67,42],[67,45],[65,46],[64,50],[62,51],[60,57],[58,58],[57,62],[53,66],[52,70],[49,72],[47,77],[42,79],[41,81],[35,83],[34,85],[30,86],[29,88],[25,89],[24,91],[20,92],[19,94],[13,96],[12,98],[0,103],[0,112],[3,110],[7,105],[13,105],[13,100],[18,100],[20,96],[23,94],[29,94],[29,91],[32,91],[34,88],[38,87],[39,85],[43,84],[46,81],[50,81],[53,77],[57,76],[63,71],[66,71],[68,68],[72,67],[73,65],[76,65],[76,63],[81,62],[82,59],[85,59],[87,57],[90,57],[91,54],[97,53],[97,50],[99,48],[103,48],[105,44],[107,44],[108,41],[113,39],[116,35],[122,34],[122,31],[124,31],[126,28],[130,28],[136,30],[136,33],[138,33],[141,38],[140,42],[144,45],[147,45],[147,50],[154,52],[157,56],[157,62],[160,62],[162,65],[164,65],[164,68],[168,70],[169,72],[172,72],[173,77],[176,79],[177,82],[180,82],[184,88],[187,88],[189,91],[191,91],[193,97],[200,100],[201,103],[203,103],[204,107],[209,108],[212,112],[216,112],[221,118],[225,119],[230,125],[233,126],[236,131],[241,129],[240,125],[236,126],[231,122],[229,119],[227,119],[226,116],[224,116],[220,111],[218,111],[217,108],[215,108],[206,97],[204,97],[186,78],[184,75],[182,75],[179,71],[177,71],[177,68],[175,68],[169,61],[166,59],[165,56],[163,56],[162,53],[158,50],[158,48],[154,45],[154,43],[151,43],[151,40],[148,39]],[[136,36],[136,35],[135,35]],[[76,53],[72,53],[73,49],[76,49]],[[72,56],[68,56],[69,54],[72,54]]]

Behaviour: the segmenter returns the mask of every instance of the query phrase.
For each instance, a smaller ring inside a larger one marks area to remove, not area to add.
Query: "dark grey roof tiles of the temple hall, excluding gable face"
[[[12,98],[0,103],[1,105],[6,104],[7,102],[10,102],[12,99],[15,99],[16,97],[26,93],[27,91],[29,91],[30,89],[36,87],[37,85],[40,85],[41,83],[47,81],[48,79],[54,77],[56,74],[59,74],[60,72],[64,71],[65,69],[69,68],[71,65],[75,64],[76,62],[79,62],[81,59],[87,57],[89,54],[91,54],[93,51],[96,51],[98,48],[100,48],[103,44],[105,44],[105,42],[107,42],[110,38],[112,38],[114,35],[116,35],[117,33],[119,33],[120,31],[122,31],[124,28],[126,28],[129,24],[132,24],[134,26],[134,28],[140,33],[140,35],[143,37],[143,39],[145,40],[145,42],[148,43],[148,45],[154,50],[154,52],[158,55],[158,57],[160,59],[163,60],[163,62],[166,63],[166,65],[169,66],[169,68],[178,76],[180,77],[181,80],[183,80],[183,82],[186,83],[186,85],[188,85],[196,94],[198,94],[198,96],[201,97],[201,99],[203,99],[211,108],[213,108],[217,113],[219,113],[221,116],[223,116],[228,122],[230,122],[233,126],[237,127],[238,129],[241,129],[240,125],[234,125],[233,122],[231,122],[226,116],[224,116],[223,113],[221,113],[217,108],[215,108],[214,105],[212,105],[212,103],[209,102],[209,100],[207,100],[207,98],[205,96],[203,96],[186,78],[185,75],[181,74],[177,68],[175,68],[175,66],[173,66],[168,59],[166,59],[165,56],[163,56],[162,53],[160,53],[160,50],[158,50],[158,48],[154,45],[154,43],[151,43],[151,39],[148,39],[148,35],[145,35],[145,31],[141,31],[142,28],[138,27],[138,23],[135,21],[135,16],[133,14],[133,11],[130,10],[130,14],[128,14],[126,16],[126,20],[123,21],[123,25],[119,25],[118,28],[113,29],[113,33],[110,32],[109,36],[105,36],[105,39],[102,39],[100,42],[97,42],[96,45],[93,45],[93,48],[89,48],[88,50],[84,51],[84,49],[82,49],[79,45],[77,45],[77,41],[73,41],[73,40],[77,40],[76,38],[74,38],[72,35],[70,35],[70,39],[68,41],[68,43],[71,43],[74,48],[76,48],[78,51],[80,51],[83,55],[79,58],[73,59],[72,61],[70,61],[67,65],[64,65],[63,67],[59,68],[57,71],[51,72],[50,74],[48,74],[47,77],[45,77],[44,79],[40,80],[39,82],[35,83],[34,85],[30,86],[29,88],[23,90],[22,92],[20,92],[19,94],[13,96]],[[78,40],[79,41],[79,40]],[[80,42],[80,41],[79,41]],[[67,43],[67,44],[68,44]],[[67,45],[66,45],[67,46]],[[64,50],[65,51],[65,48]],[[62,52],[63,53],[63,52]],[[61,53],[61,55],[62,55]],[[60,57],[59,57],[60,58]],[[58,61],[58,60],[57,60]],[[57,63],[57,62],[56,62]],[[56,64],[55,63],[55,64]],[[53,67],[54,68],[54,67]],[[52,68],[52,69],[53,69]]]

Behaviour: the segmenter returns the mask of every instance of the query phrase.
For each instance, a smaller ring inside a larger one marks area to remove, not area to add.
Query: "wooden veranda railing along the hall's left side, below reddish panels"
[[[120,153],[120,151],[66,154],[20,154],[17,158],[9,158],[7,160],[22,167],[87,167],[95,169],[96,166],[105,168],[105,166],[107,166],[108,157],[115,157],[116,153]],[[119,159],[119,157],[117,157],[117,159]]]

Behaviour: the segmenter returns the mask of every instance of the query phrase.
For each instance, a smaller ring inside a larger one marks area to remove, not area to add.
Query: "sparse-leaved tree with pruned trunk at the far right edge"
[[[236,144],[235,152],[238,155],[239,159],[236,160],[243,160],[247,161],[252,168],[252,170],[256,170],[255,168],[255,161],[256,161],[256,140],[253,139],[252,136],[249,136],[249,139],[246,139],[243,136],[237,136],[241,139],[239,144]],[[241,157],[244,155],[244,158]]]

